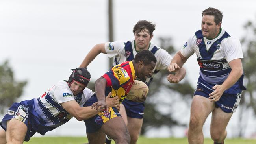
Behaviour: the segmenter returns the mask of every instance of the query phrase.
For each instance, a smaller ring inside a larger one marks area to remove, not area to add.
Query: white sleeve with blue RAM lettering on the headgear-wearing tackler
[[[71,90],[61,86],[56,87],[53,93],[53,97],[58,104],[75,100]]]

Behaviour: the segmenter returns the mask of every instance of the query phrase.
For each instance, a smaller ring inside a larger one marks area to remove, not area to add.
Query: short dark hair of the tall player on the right
[[[215,24],[219,24],[220,22],[222,22],[223,13],[213,7],[208,7],[207,9],[202,11],[202,17],[203,15],[213,15]]]

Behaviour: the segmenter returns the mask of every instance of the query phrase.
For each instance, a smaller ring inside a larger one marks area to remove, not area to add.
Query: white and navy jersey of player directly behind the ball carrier
[[[135,41],[115,41],[105,43],[105,50],[108,57],[115,57],[113,66],[118,65],[124,61],[132,61],[135,55],[138,53],[135,50]],[[173,59],[171,55],[164,49],[150,43],[148,48],[156,57],[156,66],[153,70],[151,77],[148,77],[145,81],[147,85],[150,84],[154,75],[159,72],[159,70],[167,69]]]

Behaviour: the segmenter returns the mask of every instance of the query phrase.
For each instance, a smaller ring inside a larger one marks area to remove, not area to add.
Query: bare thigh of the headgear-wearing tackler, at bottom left
[[[7,142],[17,142],[22,144],[26,136],[28,127],[24,122],[16,119],[11,119],[7,121],[6,129],[6,141]]]

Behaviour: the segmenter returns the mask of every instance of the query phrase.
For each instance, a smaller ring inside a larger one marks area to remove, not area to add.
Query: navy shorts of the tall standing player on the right
[[[200,95],[209,98],[211,92],[213,92],[213,90],[197,85],[194,96]],[[215,106],[221,108],[225,113],[235,113],[241,99],[241,94],[242,92],[233,95],[223,93],[221,98],[215,102]]]

